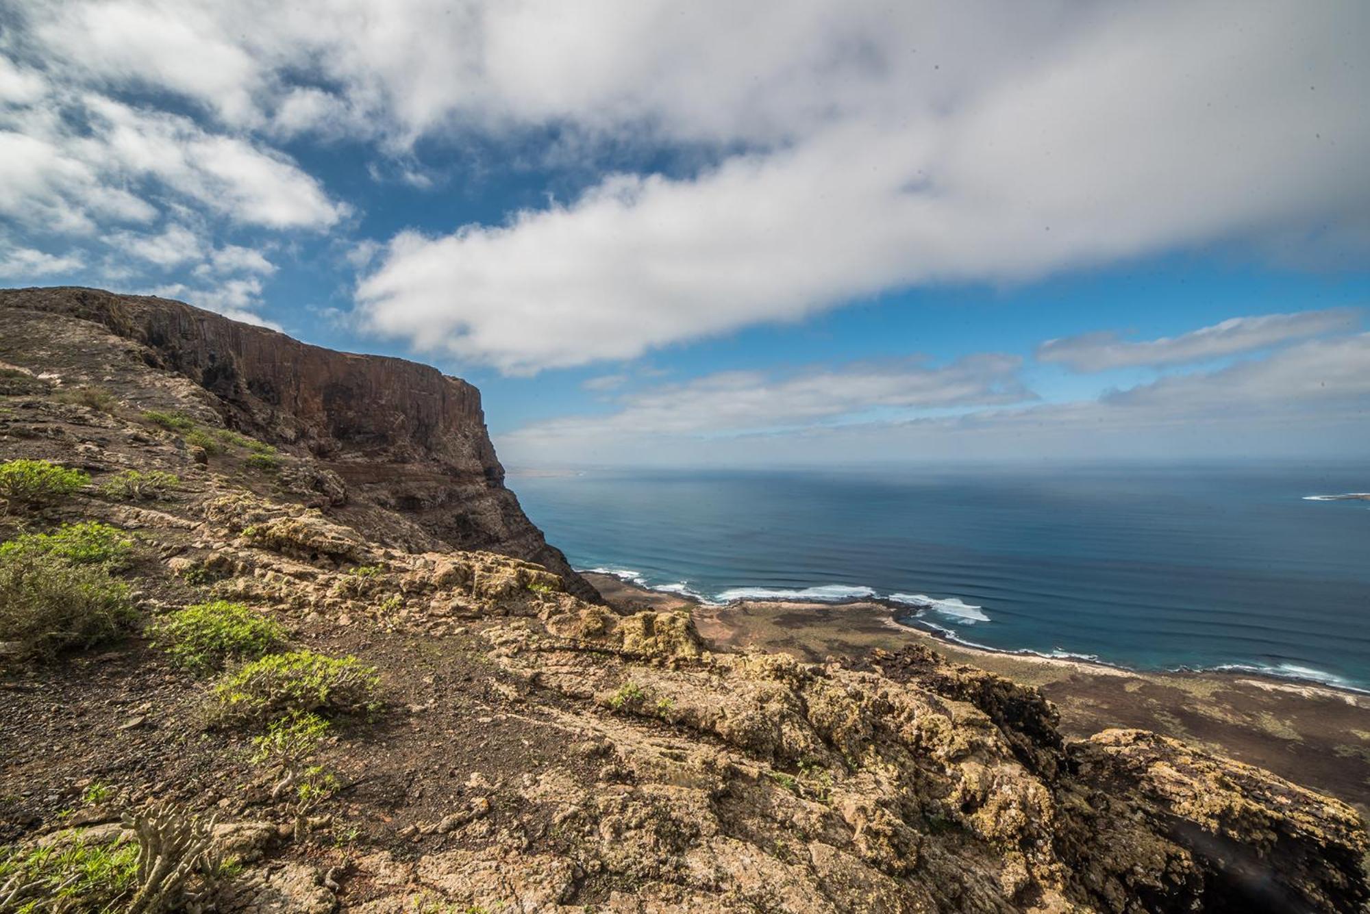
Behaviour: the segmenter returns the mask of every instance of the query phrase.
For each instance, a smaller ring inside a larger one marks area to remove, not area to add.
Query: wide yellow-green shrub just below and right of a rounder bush
[[[355,714],[378,706],[381,677],[356,657],[310,650],[269,654],[225,673],[211,690],[221,722],[267,721],[290,713]]]

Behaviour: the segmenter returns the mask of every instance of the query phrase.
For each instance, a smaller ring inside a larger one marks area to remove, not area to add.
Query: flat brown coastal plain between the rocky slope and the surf
[[[1151,673],[1074,658],[966,647],[901,625],[880,602],[738,601],[704,605],[611,575],[586,575],[614,606],[689,606],[715,650],[756,647],[821,662],[925,644],[948,660],[1036,686],[1077,737],[1151,729],[1267,768],[1370,811],[1370,695],[1247,673]]]

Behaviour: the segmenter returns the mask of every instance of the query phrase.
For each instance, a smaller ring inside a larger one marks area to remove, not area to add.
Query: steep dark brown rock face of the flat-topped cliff
[[[429,365],[310,346],[190,305],[97,289],[0,290],[0,309],[93,322],[140,343],[149,367],[214,395],[229,427],[308,453],[341,476],[336,510],[371,535],[382,509],[452,549],[484,549],[545,565],[585,599],[599,594],[504,487],[481,393]]]

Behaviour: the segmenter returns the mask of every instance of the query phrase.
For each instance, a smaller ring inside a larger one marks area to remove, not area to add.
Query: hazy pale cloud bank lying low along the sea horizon
[[[966,372],[980,360],[1010,371],[1004,358],[981,356],[959,368],[933,369],[915,387],[937,389],[936,374]],[[954,415],[870,416],[881,400],[871,394],[889,390],[888,376],[877,382],[860,371],[817,372],[811,382],[762,384],[732,406],[734,389],[758,384],[723,375],[626,397],[607,416],[534,423],[501,435],[499,446],[507,460],[523,465],[1174,458],[1232,457],[1248,447],[1263,454],[1307,453],[1310,446],[1354,454],[1370,446],[1370,334],[1304,341],[1266,358],[1171,375],[1097,400],[1023,402],[1030,393],[1017,389],[1014,376],[989,371],[981,382],[997,380],[949,398],[970,406]],[[1006,405],[995,405],[996,397]],[[896,395],[893,402],[930,406],[945,400]]]

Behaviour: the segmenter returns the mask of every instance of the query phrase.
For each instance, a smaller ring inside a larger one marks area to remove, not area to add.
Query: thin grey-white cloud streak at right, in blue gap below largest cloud
[[[1038,361],[1060,363],[1073,371],[1180,365],[1277,346],[1307,337],[1345,332],[1359,323],[1359,312],[1351,308],[1232,317],[1180,337],[1143,342],[1126,341],[1114,331],[1048,339],[1037,348],[1036,354]]]

